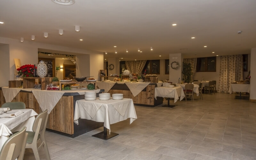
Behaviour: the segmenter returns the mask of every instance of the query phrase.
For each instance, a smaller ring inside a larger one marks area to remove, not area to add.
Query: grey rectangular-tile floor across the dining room
[[[138,119],[111,125],[119,133],[109,140],[91,135],[76,138],[47,132],[53,160],[256,160],[256,103],[237,100],[235,94],[203,94],[194,102],[178,101],[176,107],[135,106]],[[246,95],[248,96],[248,95]],[[164,101],[166,103],[166,101]],[[173,103],[173,101],[172,101]],[[44,150],[40,150],[45,159]],[[24,159],[35,159],[26,149]]]

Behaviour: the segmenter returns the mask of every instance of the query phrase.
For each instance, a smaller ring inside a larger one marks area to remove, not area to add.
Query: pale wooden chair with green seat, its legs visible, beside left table
[[[26,148],[32,148],[36,160],[39,160],[39,154],[38,154],[38,149],[41,147],[44,148],[44,152],[46,155],[46,158],[50,160],[50,155],[49,151],[46,145],[45,141],[45,128],[46,128],[46,123],[48,120],[48,110],[46,109],[44,112],[41,112],[36,116],[36,119],[34,121],[32,130],[33,131],[26,131],[28,133],[28,139],[26,141]],[[41,140],[40,143],[37,143],[38,140]],[[37,144],[39,147],[37,147]]]

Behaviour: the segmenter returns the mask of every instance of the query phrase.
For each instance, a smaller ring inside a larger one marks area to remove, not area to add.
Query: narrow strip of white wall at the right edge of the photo
[[[256,48],[251,49],[251,80],[250,80],[250,99],[256,100]]]

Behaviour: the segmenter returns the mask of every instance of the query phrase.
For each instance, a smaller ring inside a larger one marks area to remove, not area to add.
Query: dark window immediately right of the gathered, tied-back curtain
[[[142,73],[144,73],[145,69],[147,74],[160,75],[160,60],[147,60]]]

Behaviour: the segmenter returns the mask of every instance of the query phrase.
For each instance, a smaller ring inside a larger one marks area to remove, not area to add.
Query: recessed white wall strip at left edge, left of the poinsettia
[[[10,58],[9,58],[9,45],[1,44],[0,45],[0,86],[8,86],[9,85],[9,66],[10,66]],[[14,60],[13,60],[14,61]],[[12,75],[14,77],[14,74]]]

